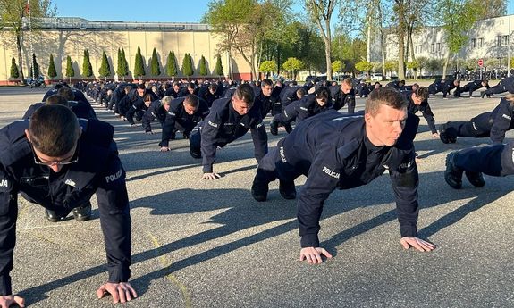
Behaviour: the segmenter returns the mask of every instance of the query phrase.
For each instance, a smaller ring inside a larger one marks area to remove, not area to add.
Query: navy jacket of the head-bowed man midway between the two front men
[[[252,134],[257,162],[260,162],[267,153],[267,134],[258,105],[254,104],[247,114],[240,115],[233,109],[231,100],[230,97],[215,100],[211,112],[206,116],[205,121],[200,123],[204,173],[213,171],[217,146],[223,147],[244,136],[249,130]]]

